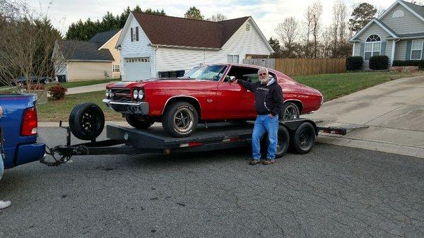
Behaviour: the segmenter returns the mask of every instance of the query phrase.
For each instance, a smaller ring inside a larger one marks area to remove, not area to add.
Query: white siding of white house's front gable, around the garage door
[[[131,28],[139,27],[139,41],[131,42]],[[155,77],[155,52],[153,47],[149,46],[148,44],[151,44],[150,40],[148,40],[148,37],[146,36],[146,33],[144,33],[143,29],[137,22],[135,18],[132,18],[131,22],[129,23],[129,28],[124,32],[124,37],[122,38],[121,47],[120,50],[120,61],[121,61],[121,76],[122,81],[126,81],[125,76],[125,61],[124,58],[130,58],[130,57],[150,57],[151,62],[151,77]]]

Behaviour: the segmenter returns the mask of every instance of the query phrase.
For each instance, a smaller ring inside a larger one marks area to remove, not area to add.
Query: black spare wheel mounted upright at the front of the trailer
[[[105,127],[105,114],[93,102],[85,102],[73,107],[69,115],[69,127],[73,136],[81,140],[97,138]]]

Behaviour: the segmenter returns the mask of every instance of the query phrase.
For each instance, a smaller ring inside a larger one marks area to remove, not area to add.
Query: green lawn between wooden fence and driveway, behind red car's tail
[[[406,78],[422,74],[422,72],[329,73],[312,76],[295,76],[293,79],[299,83],[319,90],[322,95],[324,95],[324,99],[329,101],[397,78]]]

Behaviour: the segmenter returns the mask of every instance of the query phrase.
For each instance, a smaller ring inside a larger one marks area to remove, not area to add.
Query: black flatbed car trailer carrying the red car
[[[192,136],[184,138],[174,138],[165,133],[159,126],[141,130],[133,127],[107,125],[107,140],[96,141],[96,137],[102,132],[105,119],[100,107],[94,104],[92,107],[92,110],[77,119],[83,121],[83,124],[86,125],[84,129],[86,134],[91,135],[90,142],[72,145],[71,134],[77,138],[78,134],[73,133],[72,126],[61,126],[60,122],[59,126],[66,129],[66,145],[57,145],[54,148],[47,147],[46,153],[52,155],[54,161],[47,162],[42,159],[41,162],[49,166],[57,166],[69,160],[73,155],[134,155],[146,153],[170,155],[170,153],[207,152],[250,146],[252,141],[254,126],[252,122],[199,124]],[[101,114],[99,114],[99,109]],[[100,121],[98,120],[99,115]],[[95,126],[99,123],[101,124],[100,128]],[[282,157],[289,147],[300,154],[310,152],[319,131],[345,135],[348,129],[361,127],[367,126],[319,127],[310,119],[279,121],[276,157]],[[261,140],[261,148],[266,150],[267,142],[266,135],[264,135]]]

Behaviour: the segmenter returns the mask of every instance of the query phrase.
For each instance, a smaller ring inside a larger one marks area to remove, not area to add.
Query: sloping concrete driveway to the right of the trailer
[[[318,141],[424,158],[424,76],[401,78],[324,103],[309,119],[320,126],[364,124]]]

